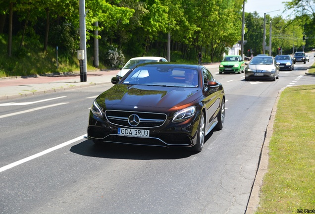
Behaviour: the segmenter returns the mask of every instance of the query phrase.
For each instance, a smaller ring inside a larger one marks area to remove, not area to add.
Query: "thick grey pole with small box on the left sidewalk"
[[[86,29],[85,29],[85,0],[79,2],[79,15],[80,15],[80,51],[82,55],[80,61],[80,80],[81,82],[87,81],[87,63],[86,63]]]

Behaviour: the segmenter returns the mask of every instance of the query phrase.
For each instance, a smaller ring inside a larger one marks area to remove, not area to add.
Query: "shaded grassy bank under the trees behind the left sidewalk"
[[[12,56],[6,54],[7,36],[0,34],[0,77],[30,76],[42,73],[54,73],[78,70],[78,63],[70,54],[59,53],[56,68],[56,50],[48,48],[42,52],[42,44],[38,40],[26,37],[24,46],[19,48],[20,36],[13,37]]]

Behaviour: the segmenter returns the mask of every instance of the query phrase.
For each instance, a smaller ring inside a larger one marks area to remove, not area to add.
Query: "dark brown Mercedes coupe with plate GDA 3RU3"
[[[88,139],[200,152],[205,136],[223,128],[225,94],[203,65],[145,63],[99,95],[90,110]]]

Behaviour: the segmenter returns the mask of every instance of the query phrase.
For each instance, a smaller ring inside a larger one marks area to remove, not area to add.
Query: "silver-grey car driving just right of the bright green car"
[[[250,63],[245,62],[245,81],[252,79],[273,80],[279,78],[279,62],[273,56],[254,56]]]

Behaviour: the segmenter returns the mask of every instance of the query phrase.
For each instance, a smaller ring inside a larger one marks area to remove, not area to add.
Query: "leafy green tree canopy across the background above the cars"
[[[304,1],[292,0],[292,5]],[[0,16],[0,33],[7,33],[10,26],[9,5],[13,6],[14,47],[9,43],[12,39],[10,34],[5,36],[12,57],[27,58],[33,52],[30,49],[38,50],[35,53],[38,58],[42,54],[47,57],[58,46],[60,61],[70,67],[75,64],[73,57],[75,50],[79,49],[78,0],[2,0],[0,14],[5,16]],[[168,33],[171,35],[171,55],[176,56],[171,61],[196,61],[199,51],[203,52],[204,61],[219,60],[228,48],[241,40],[242,6],[243,0],[86,0],[88,63],[92,64],[94,58],[94,38],[99,39],[100,61],[108,66],[120,66],[123,61],[120,55],[128,58],[151,54],[165,57]],[[266,16],[266,19],[266,23],[269,23],[270,17]],[[252,49],[256,54],[262,51],[262,22],[262,17],[257,13],[246,14],[245,49]],[[273,23],[277,34],[301,37],[302,32],[313,33],[313,22],[305,15],[293,21],[276,17]],[[305,31],[306,27],[308,31]],[[95,30],[98,30],[98,34],[95,34]],[[267,31],[266,38],[268,34]],[[274,50],[282,45],[283,50],[289,51],[293,44],[300,49],[305,42],[276,37],[272,40]],[[117,55],[107,55],[107,47],[110,46],[117,48],[113,52]],[[312,45],[307,44],[307,47],[311,48]],[[123,53],[119,54],[120,51]],[[50,63],[46,64],[46,70],[53,70]],[[12,67],[15,65],[1,69],[10,70]],[[37,69],[24,70],[42,72]]]

